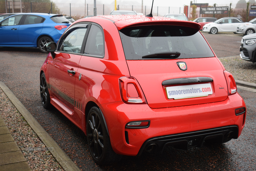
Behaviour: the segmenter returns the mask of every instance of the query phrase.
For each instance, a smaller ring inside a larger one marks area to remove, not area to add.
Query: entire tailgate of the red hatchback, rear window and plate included
[[[224,101],[224,70],[201,33],[192,27],[135,26],[119,31],[130,75],[151,108]]]

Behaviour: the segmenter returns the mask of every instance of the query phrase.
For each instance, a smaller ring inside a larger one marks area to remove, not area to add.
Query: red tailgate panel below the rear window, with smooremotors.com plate
[[[185,62],[180,70],[177,62]],[[127,61],[151,108],[186,106],[227,99],[227,82],[217,58]],[[180,78],[180,79],[179,79]]]

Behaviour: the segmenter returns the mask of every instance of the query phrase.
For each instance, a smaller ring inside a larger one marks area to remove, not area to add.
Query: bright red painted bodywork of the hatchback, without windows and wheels
[[[225,139],[236,139],[241,135],[246,106],[241,96],[236,93],[233,76],[225,71],[214,53],[209,58],[125,58],[119,33],[122,29],[175,25],[198,31],[198,23],[163,17],[112,15],[77,20],[70,28],[82,22],[96,23],[102,27],[104,57],[93,58],[86,54],[77,55],[56,50],[49,53],[40,74],[45,74],[50,103],[85,134],[87,115],[90,108],[95,106],[102,112],[113,151],[121,155],[136,156],[144,150],[156,149],[162,152],[168,145],[182,149],[201,147],[207,139],[219,137],[224,142]],[[186,70],[177,66],[180,61],[186,63]],[[67,70],[74,71],[75,74],[68,73]],[[164,82],[182,78],[188,82]],[[166,87],[203,84],[195,81],[196,78],[212,78],[203,81],[205,86],[210,85],[212,94],[168,99]],[[135,95],[125,94],[126,86],[131,86],[129,90],[135,88],[137,91],[130,91],[135,92]],[[140,102],[132,103],[128,99]],[[142,125],[138,127],[128,125],[130,122],[141,121]],[[189,140],[188,137],[192,139]]]

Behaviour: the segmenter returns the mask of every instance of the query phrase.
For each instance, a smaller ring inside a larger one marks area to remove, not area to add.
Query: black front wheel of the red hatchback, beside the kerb
[[[47,81],[44,73],[42,73],[40,77],[40,96],[41,96],[43,107],[45,109],[50,109],[52,107],[52,104],[50,103],[50,95],[49,95]]]

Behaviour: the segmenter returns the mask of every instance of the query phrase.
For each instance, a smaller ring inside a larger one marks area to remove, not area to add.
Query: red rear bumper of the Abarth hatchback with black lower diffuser
[[[195,145],[199,147],[208,136],[225,139],[226,133],[235,127],[236,136],[232,138],[237,138],[244,128],[246,117],[246,112],[236,116],[235,110],[241,107],[245,107],[245,103],[238,93],[228,96],[225,101],[183,107],[152,109],[147,104],[124,104],[122,101],[100,106],[113,150],[117,154],[131,156],[140,155],[151,143],[157,145],[159,152],[166,145],[175,145],[180,141],[185,144],[182,148],[189,148],[189,136],[195,139],[201,137]],[[128,122],[143,120],[150,120],[148,128],[125,128]],[[226,127],[231,128],[226,130]],[[218,133],[219,128],[221,133]],[[176,142],[172,137],[179,140]]]

